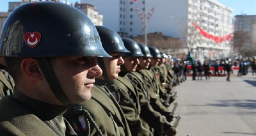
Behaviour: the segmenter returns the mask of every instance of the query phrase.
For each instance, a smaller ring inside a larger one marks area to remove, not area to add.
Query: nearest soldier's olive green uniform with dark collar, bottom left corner
[[[33,100],[14,91],[0,101],[1,136],[77,136],[62,114],[67,106]]]

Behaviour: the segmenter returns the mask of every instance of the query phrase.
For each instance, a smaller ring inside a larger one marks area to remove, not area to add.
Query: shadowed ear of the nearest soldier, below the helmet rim
[[[38,62],[33,58],[23,59],[21,69],[26,79],[38,81],[44,77]]]

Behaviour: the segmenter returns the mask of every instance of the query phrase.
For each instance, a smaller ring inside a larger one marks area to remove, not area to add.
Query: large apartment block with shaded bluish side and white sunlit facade
[[[227,57],[232,9],[217,0],[81,0],[97,6],[104,26],[130,37],[162,32],[180,38],[197,59]],[[106,6],[108,5],[108,6]]]

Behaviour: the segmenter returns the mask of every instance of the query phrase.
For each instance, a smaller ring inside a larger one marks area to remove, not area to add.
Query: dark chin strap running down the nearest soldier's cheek
[[[61,88],[60,82],[56,77],[52,66],[50,65],[49,58],[36,58],[37,62],[39,63],[42,72],[48,82],[52,92],[54,93],[55,97],[64,105],[71,104],[72,102],[64,93],[63,89]]]

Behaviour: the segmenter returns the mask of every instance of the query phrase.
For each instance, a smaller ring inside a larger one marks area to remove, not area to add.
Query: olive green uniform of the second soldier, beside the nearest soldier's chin
[[[98,83],[99,80],[97,79],[96,82]],[[104,136],[131,136],[124,113],[109,90],[104,86],[94,85],[91,94],[91,99],[81,105],[90,113],[102,134]],[[89,135],[100,135],[100,133],[95,126],[91,126]]]

